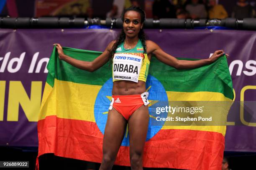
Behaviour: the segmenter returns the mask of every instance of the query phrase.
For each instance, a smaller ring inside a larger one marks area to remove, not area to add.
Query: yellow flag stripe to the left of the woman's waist
[[[39,120],[56,115],[59,118],[95,122],[94,103],[102,86],[54,80],[46,83]]]

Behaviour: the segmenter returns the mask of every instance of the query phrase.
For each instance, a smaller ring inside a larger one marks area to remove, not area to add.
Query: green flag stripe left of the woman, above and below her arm
[[[62,48],[66,55],[83,61],[92,61],[102,54],[102,52],[97,51],[80,50],[68,47]],[[59,60],[58,52],[55,48],[51,54],[47,69],[51,76],[58,80],[90,85],[103,85],[112,76],[112,65],[110,62],[107,62],[103,67],[95,72],[84,71],[68,64],[65,61]]]

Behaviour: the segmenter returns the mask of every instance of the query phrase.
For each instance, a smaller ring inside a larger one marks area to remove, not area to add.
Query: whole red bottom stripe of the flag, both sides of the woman
[[[95,122],[48,116],[38,121],[38,155],[54,153],[100,163],[103,135]],[[143,166],[152,168],[221,169],[222,134],[199,130],[160,130],[145,144]],[[129,148],[121,146],[116,165],[130,166]]]

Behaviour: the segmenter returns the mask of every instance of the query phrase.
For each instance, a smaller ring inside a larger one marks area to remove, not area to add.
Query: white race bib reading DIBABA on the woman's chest
[[[131,54],[115,54],[113,58],[113,79],[138,82],[143,57]]]

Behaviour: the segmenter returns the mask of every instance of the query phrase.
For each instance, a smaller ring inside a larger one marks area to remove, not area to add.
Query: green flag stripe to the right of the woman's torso
[[[177,70],[159,62],[155,57],[151,63],[149,74],[156,77],[166,91],[220,92],[233,99],[233,85],[226,57],[220,57],[210,65],[188,70]]]

